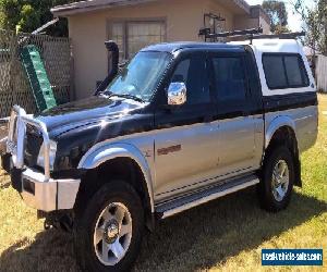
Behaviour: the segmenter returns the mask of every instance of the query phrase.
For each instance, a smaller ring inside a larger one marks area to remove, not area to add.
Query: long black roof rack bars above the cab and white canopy
[[[282,33],[282,34],[263,34],[263,28],[251,28],[244,30],[233,30],[233,32],[223,32],[213,34],[210,33],[210,28],[202,28],[199,29],[198,36],[204,36],[205,40],[217,40],[218,38],[232,38],[238,40],[252,40],[253,39],[296,39],[299,37],[305,36],[305,32],[296,32],[296,33]]]

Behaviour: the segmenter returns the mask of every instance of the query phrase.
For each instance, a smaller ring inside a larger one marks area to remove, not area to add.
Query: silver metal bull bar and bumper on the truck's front
[[[34,126],[44,138],[44,172],[24,165],[26,124]],[[49,135],[46,125],[14,107],[9,122],[7,153],[2,156],[4,169],[10,172],[12,186],[27,206],[45,212],[74,208],[81,180],[53,180],[50,176]]]

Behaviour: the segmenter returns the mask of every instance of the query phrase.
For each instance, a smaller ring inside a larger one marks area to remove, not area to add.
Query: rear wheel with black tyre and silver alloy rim
[[[289,148],[281,146],[270,149],[257,186],[262,208],[270,212],[286,209],[291,199],[294,177],[294,160]]]

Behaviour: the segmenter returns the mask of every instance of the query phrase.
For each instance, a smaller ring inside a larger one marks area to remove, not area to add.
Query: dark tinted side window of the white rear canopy
[[[299,54],[265,54],[263,64],[270,89],[308,86],[308,77]]]

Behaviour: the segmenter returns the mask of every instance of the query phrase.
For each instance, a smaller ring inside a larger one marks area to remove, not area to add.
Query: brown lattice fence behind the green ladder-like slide
[[[14,104],[36,113],[35,100],[21,63],[20,49],[35,45],[41,54],[57,103],[72,97],[72,58],[69,38],[28,35],[0,29],[0,118],[8,116]]]

